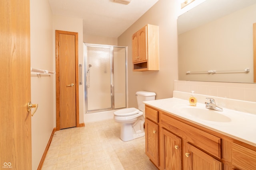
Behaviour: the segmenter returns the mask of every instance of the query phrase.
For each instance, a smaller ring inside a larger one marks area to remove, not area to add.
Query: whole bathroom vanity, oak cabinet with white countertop
[[[146,154],[158,169],[256,169],[256,115],[177,98],[144,103]]]

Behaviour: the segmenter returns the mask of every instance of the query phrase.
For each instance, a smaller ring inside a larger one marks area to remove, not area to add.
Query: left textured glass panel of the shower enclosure
[[[86,55],[87,111],[110,109],[111,48],[86,46]]]

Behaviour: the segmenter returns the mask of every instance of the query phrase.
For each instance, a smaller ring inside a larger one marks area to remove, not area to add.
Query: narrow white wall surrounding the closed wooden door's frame
[[[55,30],[70,31],[78,33],[78,63],[82,64],[82,69],[84,69],[84,57],[83,57],[83,20],[80,18],[68,18],[64,16],[53,15],[53,45],[52,48],[55,49]],[[55,68],[55,50],[52,54],[54,68]],[[79,123],[84,123],[84,73],[82,73],[83,85],[79,85]],[[54,82],[54,87],[56,82]],[[54,103],[56,103],[56,90],[54,89]],[[54,105],[56,110],[56,105]],[[54,127],[56,127],[56,115],[54,115]]]

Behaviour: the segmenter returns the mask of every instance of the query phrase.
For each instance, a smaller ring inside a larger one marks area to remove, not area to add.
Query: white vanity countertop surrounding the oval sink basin
[[[214,111],[212,114],[219,113],[226,115],[231,119],[229,122],[217,122],[217,121],[206,121],[182,113],[180,107],[198,107],[205,108],[205,104],[198,103],[196,106],[189,106],[188,100],[179,98],[167,98],[161,100],[146,101],[145,104],[160,109],[166,113],[170,113],[184,120],[190,121],[202,127],[206,127],[218,133],[232,137],[244,143],[248,143],[256,147],[256,115],[252,113],[246,113],[241,111],[235,111],[227,108],[223,108],[223,111]],[[207,111],[207,109],[206,109]]]

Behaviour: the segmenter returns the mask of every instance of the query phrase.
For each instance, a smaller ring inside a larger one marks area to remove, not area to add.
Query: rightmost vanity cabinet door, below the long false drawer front
[[[222,170],[222,162],[186,143],[184,149],[184,169],[186,170]]]

